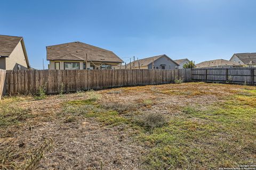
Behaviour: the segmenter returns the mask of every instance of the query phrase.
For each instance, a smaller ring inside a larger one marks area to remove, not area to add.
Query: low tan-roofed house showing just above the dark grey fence
[[[239,64],[238,62],[231,62],[228,60],[211,60],[211,61],[205,61],[202,63],[196,64],[196,68],[209,68],[209,67],[242,67],[242,64]]]

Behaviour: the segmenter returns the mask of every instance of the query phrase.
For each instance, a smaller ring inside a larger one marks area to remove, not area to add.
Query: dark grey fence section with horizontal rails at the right
[[[198,68],[191,73],[193,81],[256,84],[256,68],[253,67]]]

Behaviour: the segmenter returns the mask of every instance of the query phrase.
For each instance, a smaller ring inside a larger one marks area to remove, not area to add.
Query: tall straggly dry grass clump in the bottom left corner
[[[18,149],[10,146],[0,149],[0,169],[37,169],[39,161],[44,157],[45,152],[51,149],[52,143],[51,138],[46,139],[41,146],[27,154],[20,153]]]

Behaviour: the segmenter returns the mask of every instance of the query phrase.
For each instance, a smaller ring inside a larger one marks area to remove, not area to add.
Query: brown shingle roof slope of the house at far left
[[[0,56],[8,57],[22,37],[0,35]]]

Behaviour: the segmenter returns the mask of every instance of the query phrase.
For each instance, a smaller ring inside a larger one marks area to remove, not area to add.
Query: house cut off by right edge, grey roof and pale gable
[[[237,53],[230,58],[230,61],[247,67],[256,67],[256,53]]]

